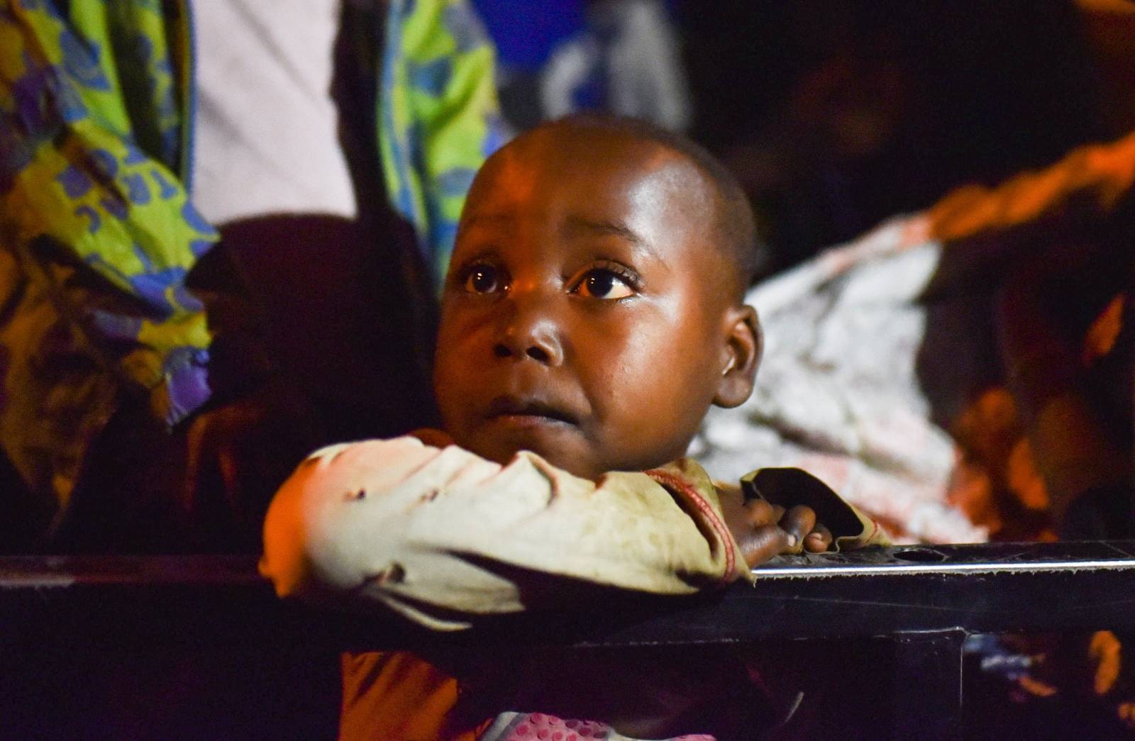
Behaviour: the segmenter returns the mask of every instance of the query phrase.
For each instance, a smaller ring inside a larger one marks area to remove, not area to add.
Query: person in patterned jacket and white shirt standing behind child
[[[503,141],[463,0],[7,0],[0,50],[7,550],[251,548],[277,461],[431,420]]]

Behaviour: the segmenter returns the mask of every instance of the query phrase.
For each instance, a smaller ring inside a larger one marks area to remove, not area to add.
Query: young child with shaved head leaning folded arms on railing
[[[444,431],[301,464],[269,511],[263,572],[280,595],[375,600],[460,629],[581,591],[692,593],[751,580],[779,553],[880,541],[802,472],[718,488],[682,458],[711,405],[753,390],[754,252],[739,186],[679,136],[574,117],[514,140],[461,218],[434,373]],[[344,736],[575,733],[533,709],[603,721],[609,739],[728,727],[691,687],[629,687],[625,670],[605,673],[617,691],[592,672],[541,692],[513,659],[430,658],[346,657]]]

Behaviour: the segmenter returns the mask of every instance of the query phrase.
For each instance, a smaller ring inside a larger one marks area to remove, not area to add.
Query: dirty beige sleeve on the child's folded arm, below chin
[[[712,485],[682,465],[653,472],[664,487],[411,437],[336,445],[277,492],[260,569],[280,596],[378,603],[435,629],[548,606],[557,580],[682,595],[748,576]]]

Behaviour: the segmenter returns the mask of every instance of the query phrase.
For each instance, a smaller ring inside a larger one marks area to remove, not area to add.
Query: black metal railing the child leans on
[[[951,738],[962,733],[966,635],[1135,631],[1135,541],[900,546],[781,557],[758,574],[756,586],[717,595],[605,595],[592,603],[602,609],[583,604],[439,635],[385,615],[280,601],[254,556],[2,557],[0,676],[15,687],[42,656],[141,664],[155,652],[247,657],[281,647],[312,657],[494,641],[581,650],[882,641],[899,688],[888,715],[893,736]],[[27,714],[25,731],[34,726]]]

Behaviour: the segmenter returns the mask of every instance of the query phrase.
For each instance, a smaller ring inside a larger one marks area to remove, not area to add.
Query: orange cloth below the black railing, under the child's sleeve
[[[457,680],[405,651],[343,654],[343,741],[474,741],[478,727],[452,729]]]

